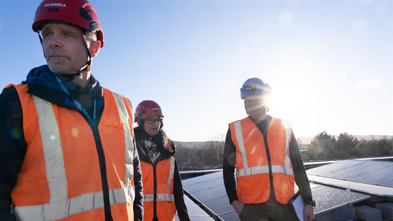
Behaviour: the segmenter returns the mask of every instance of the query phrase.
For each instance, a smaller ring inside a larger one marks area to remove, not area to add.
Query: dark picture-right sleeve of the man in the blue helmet
[[[298,142],[293,132],[291,133],[291,141],[289,143],[289,158],[291,159],[295,182],[299,187],[299,192],[302,194],[304,201],[312,201],[309,178],[307,177]]]

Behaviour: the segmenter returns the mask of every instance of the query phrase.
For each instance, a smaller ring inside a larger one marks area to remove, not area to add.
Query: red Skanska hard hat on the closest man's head
[[[38,32],[45,22],[61,22],[97,33],[97,40],[104,47],[104,35],[98,15],[87,0],[43,0],[35,12],[31,28]]]

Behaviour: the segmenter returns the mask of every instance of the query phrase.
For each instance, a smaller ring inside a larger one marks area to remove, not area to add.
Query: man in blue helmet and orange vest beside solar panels
[[[296,221],[288,204],[296,182],[306,202],[304,221],[312,221],[315,202],[296,138],[289,123],[266,114],[270,93],[271,87],[258,78],[240,89],[248,117],[229,124],[225,190],[242,221]]]

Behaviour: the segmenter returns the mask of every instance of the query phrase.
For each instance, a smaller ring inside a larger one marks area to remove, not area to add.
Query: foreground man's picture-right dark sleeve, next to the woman
[[[135,200],[134,200],[134,220],[143,221],[143,185],[142,185],[142,170],[140,168],[139,155],[137,145],[134,143],[134,186],[135,186]]]

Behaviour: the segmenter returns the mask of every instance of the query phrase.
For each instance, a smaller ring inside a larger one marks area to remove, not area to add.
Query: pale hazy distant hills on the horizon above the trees
[[[338,135],[335,135],[335,138],[337,139]],[[382,139],[384,137],[388,139],[392,139],[392,135],[354,135],[354,137],[358,138],[358,140],[365,139],[365,140],[371,140],[371,139]],[[309,144],[314,137],[298,137],[302,141],[302,144]],[[190,141],[190,142],[182,142],[182,141],[173,141],[178,148],[203,148],[206,142],[209,141]]]

